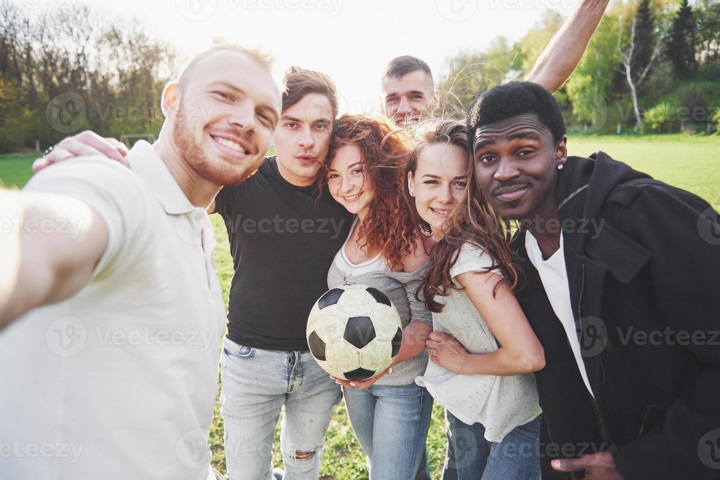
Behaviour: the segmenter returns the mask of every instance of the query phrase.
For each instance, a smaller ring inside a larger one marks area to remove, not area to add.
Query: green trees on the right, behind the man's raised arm
[[[564,18],[547,12],[521,40],[447,58],[449,112],[528,73]],[[616,0],[556,98],[571,132],[720,130],[720,2]]]

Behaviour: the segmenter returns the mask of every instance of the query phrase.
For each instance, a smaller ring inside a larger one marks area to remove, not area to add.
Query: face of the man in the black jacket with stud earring
[[[505,219],[546,217],[556,209],[557,166],[567,159],[535,114],[478,127],[473,140],[475,175],[488,201]]]

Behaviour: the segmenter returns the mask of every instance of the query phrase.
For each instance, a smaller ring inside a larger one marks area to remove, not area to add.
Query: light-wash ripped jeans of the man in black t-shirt
[[[225,338],[220,412],[230,480],[272,479],[272,444],[281,409],[285,480],[317,480],[325,430],[340,387],[310,352],[280,352]]]

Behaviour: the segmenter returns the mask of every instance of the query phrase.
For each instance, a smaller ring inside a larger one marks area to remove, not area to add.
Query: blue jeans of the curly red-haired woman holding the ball
[[[429,480],[426,438],[433,397],[415,383],[345,389],[348,417],[367,456],[370,479]]]

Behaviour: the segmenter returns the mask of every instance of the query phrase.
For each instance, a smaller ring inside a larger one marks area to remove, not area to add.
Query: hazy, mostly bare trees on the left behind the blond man
[[[157,135],[176,56],[135,19],[110,24],[69,4],[28,15],[0,1],[0,153],[85,129]]]

